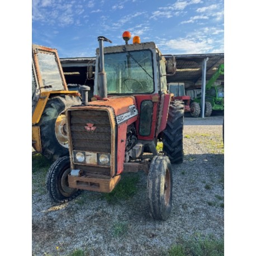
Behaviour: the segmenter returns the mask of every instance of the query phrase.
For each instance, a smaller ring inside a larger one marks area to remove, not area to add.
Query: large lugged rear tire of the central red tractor
[[[162,132],[163,151],[169,157],[170,163],[183,162],[183,125],[184,102],[170,102],[167,124]]]

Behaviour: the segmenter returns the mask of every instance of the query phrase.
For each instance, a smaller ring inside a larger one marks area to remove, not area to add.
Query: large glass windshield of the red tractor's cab
[[[107,93],[153,93],[153,56],[150,50],[105,54]]]

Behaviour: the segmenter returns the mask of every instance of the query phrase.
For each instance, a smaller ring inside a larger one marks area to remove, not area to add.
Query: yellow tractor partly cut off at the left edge
[[[32,44],[32,153],[50,160],[69,154],[65,110],[80,104],[80,94],[68,91],[57,50]]]

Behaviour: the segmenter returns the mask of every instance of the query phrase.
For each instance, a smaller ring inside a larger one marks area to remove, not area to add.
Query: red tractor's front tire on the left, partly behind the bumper
[[[50,166],[45,184],[51,201],[64,203],[80,194],[79,189],[68,187],[68,174],[70,172],[69,157],[61,157]]]

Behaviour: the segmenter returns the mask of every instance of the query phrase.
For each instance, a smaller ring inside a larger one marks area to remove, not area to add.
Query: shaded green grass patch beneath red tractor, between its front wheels
[[[120,200],[128,200],[138,191],[136,187],[139,182],[138,173],[124,173],[122,174],[121,181],[113,189],[111,193],[104,193],[103,197],[109,203],[115,203]]]

